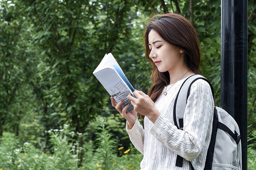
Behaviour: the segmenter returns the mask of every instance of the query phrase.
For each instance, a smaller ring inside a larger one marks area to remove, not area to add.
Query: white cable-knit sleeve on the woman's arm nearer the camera
[[[199,155],[206,155],[212,131],[213,109],[214,101],[209,84],[197,80],[191,86],[183,130],[177,129],[169,117],[161,115],[150,133],[184,159],[192,160]],[[206,156],[200,159],[204,162]]]

